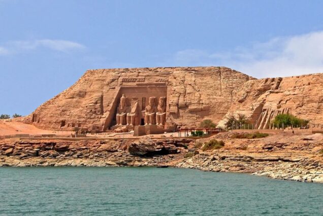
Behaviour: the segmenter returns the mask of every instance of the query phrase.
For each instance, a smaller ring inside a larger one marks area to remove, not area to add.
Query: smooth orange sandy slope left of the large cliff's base
[[[13,134],[71,134],[71,131],[42,130],[34,125],[0,120],[0,136]]]

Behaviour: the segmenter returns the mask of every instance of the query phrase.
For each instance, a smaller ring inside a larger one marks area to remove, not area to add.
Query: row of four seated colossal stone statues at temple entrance
[[[116,125],[140,125],[142,111],[137,97],[132,97],[132,106],[127,105],[127,97],[122,94],[117,109]],[[166,97],[159,97],[156,106],[156,97],[149,97],[148,105],[144,112],[145,125],[165,125]]]

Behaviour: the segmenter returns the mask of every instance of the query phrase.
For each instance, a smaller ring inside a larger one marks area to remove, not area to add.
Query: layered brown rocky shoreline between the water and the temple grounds
[[[275,134],[232,139],[230,133],[193,140],[0,140],[0,166],[173,166],[241,172],[289,181],[323,183],[323,136]],[[222,149],[202,151],[210,139]],[[187,153],[193,153],[188,155]]]

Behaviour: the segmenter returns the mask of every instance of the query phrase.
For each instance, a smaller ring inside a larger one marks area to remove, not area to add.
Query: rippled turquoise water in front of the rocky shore
[[[0,215],[322,215],[323,184],[152,167],[2,167]]]

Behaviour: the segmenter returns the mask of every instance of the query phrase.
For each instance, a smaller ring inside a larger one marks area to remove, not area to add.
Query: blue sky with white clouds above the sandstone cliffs
[[[322,8],[320,0],[0,0],[0,114],[30,114],[87,69],[323,73]]]

